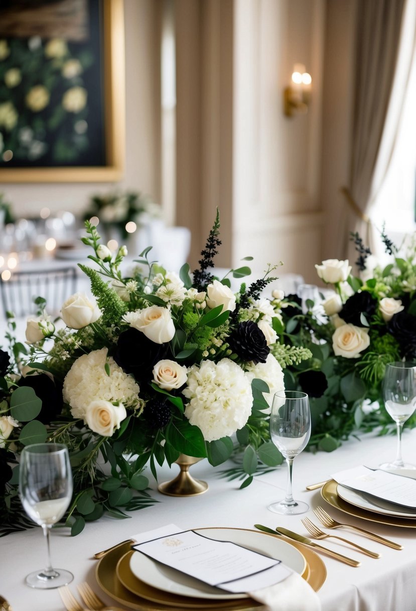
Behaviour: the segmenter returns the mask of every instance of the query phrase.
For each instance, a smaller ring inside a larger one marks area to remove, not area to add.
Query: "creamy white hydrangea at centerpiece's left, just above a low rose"
[[[110,375],[105,370],[110,367]],[[138,403],[140,388],[131,375],[124,373],[107,348],[93,350],[77,359],[63,381],[63,400],[71,406],[74,418],[82,418],[92,401],[120,401],[134,407]]]

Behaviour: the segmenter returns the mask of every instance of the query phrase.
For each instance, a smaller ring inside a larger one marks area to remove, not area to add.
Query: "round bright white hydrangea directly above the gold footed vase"
[[[242,428],[251,414],[251,382],[230,359],[218,363],[203,360],[188,369],[182,393],[190,401],[185,416],[201,429],[206,441],[214,441]]]

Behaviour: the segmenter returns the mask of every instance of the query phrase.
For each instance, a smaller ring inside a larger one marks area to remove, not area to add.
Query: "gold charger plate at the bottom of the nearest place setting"
[[[252,529],[241,529],[241,530],[252,530]],[[257,531],[253,531],[257,532]],[[260,536],[278,536],[278,535],[268,535],[268,533],[258,533]],[[286,541],[286,540],[285,540]],[[323,560],[315,554],[311,549],[297,543],[296,541],[290,541],[290,543],[296,547],[306,558],[307,563],[307,571],[304,573],[303,577],[307,580],[309,585],[315,590],[318,591],[321,586],[324,584],[326,579],[326,566],[323,563]],[[107,554],[98,561],[96,566],[96,580],[101,587],[101,589],[106,592],[111,598],[120,602],[124,606],[129,607],[130,609],[137,609],[138,611],[172,611],[173,605],[166,604],[162,602],[154,602],[149,599],[146,599],[145,596],[137,596],[131,591],[127,590],[121,584],[120,580],[117,577],[116,568],[118,562],[127,554],[127,552],[131,551],[131,547],[129,543],[124,543],[118,547],[112,549],[112,551],[107,552]],[[138,580],[140,581],[140,580]],[[143,584],[146,588],[150,588],[150,586]],[[151,588],[152,591],[156,591],[159,593],[159,590],[156,588]],[[144,590],[143,590],[144,594]],[[214,606],[211,606],[211,602],[202,602],[201,599],[197,599],[197,603],[195,606],[188,607],[189,599],[176,595],[176,598],[182,599],[181,606],[187,609],[194,609],[195,611],[198,609],[207,609],[207,608],[217,608],[217,609],[235,609],[235,610],[245,610],[250,611],[256,609],[261,606],[259,602],[252,601],[251,599],[241,599],[235,601],[216,601]],[[176,601],[175,601],[176,602]],[[206,606],[209,605],[209,607]],[[221,606],[220,606],[221,605]]]

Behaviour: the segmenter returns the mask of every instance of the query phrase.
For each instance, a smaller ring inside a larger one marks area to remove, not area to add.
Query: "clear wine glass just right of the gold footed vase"
[[[270,511],[293,516],[305,513],[309,505],[293,499],[292,466],[295,456],[306,447],[310,437],[309,397],[298,390],[281,390],[273,397],[270,414],[270,436],[285,457],[289,469],[284,499],[271,503]]]

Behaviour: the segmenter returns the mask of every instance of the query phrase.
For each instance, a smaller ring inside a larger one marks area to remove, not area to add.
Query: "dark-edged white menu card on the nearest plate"
[[[138,552],[232,593],[265,588],[292,573],[280,560],[174,524],[135,535],[134,540]]]

